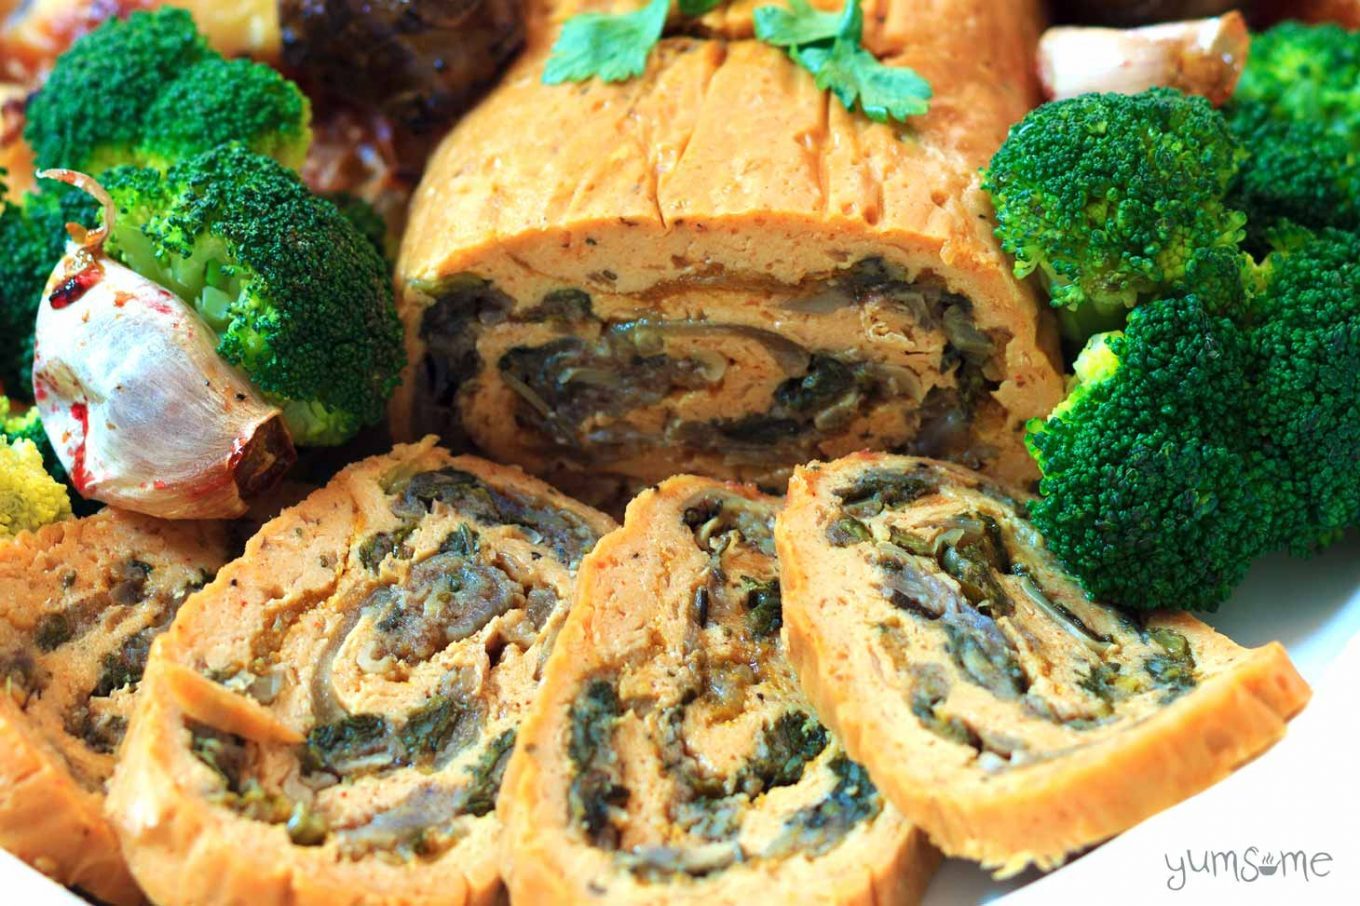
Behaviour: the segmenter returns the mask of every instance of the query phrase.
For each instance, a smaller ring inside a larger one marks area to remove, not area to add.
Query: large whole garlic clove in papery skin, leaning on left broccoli
[[[102,237],[101,237],[102,238]],[[233,518],[295,453],[277,407],[180,297],[69,244],[38,309],[34,397],[76,490],[162,518]]]

